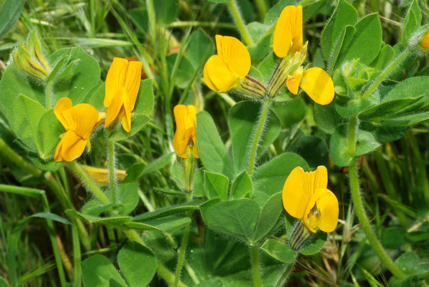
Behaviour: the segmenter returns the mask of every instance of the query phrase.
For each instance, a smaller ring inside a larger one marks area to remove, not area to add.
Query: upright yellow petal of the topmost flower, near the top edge
[[[302,48],[302,6],[286,6],[280,14],[274,30],[273,49],[280,57],[286,57]]]

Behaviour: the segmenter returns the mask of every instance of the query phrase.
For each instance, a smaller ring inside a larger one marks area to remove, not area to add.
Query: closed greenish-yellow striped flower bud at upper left
[[[36,30],[28,34],[27,43],[20,42],[13,52],[14,62],[23,73],[45,82],[51,67],[42,53],[42,46]]]

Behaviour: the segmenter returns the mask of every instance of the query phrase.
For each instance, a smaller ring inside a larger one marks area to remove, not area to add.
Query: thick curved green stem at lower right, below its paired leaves
[[[395,277],[398,279],[405,279],[407,276],[395,265],[395,263],[393,263],[389,255],[387,255],[380,241],[377,239],[376,234],[372,230],[368,218],[366,217],[362,197],[360,196],[359,191],[359,179],[357,174],[357,164],[355,161],[349,166],[349,180],[354,210],[369,244],[372,246],[374,251],[376,251],[383,264],[390,270],[390,272],[392,272],[393,275],[395,275]]]

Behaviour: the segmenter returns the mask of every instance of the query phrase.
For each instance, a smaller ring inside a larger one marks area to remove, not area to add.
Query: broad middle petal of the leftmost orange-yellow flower
[[[75,125],[72,129],[76,134],[84,139],[91,136],[92,130],[98,120],[97,110],[90,104],[78,104],[63,112],[65,117],[70,117]]]

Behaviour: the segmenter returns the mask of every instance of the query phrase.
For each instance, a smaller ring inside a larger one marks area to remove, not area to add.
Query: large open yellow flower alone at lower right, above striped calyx
[[[313,172],[296,167],[283,186],[283,206],[294,218],[302,219],[311,231],[332,232],[338,223],[338,200],[327,189],[328,171],[319,166]]]

